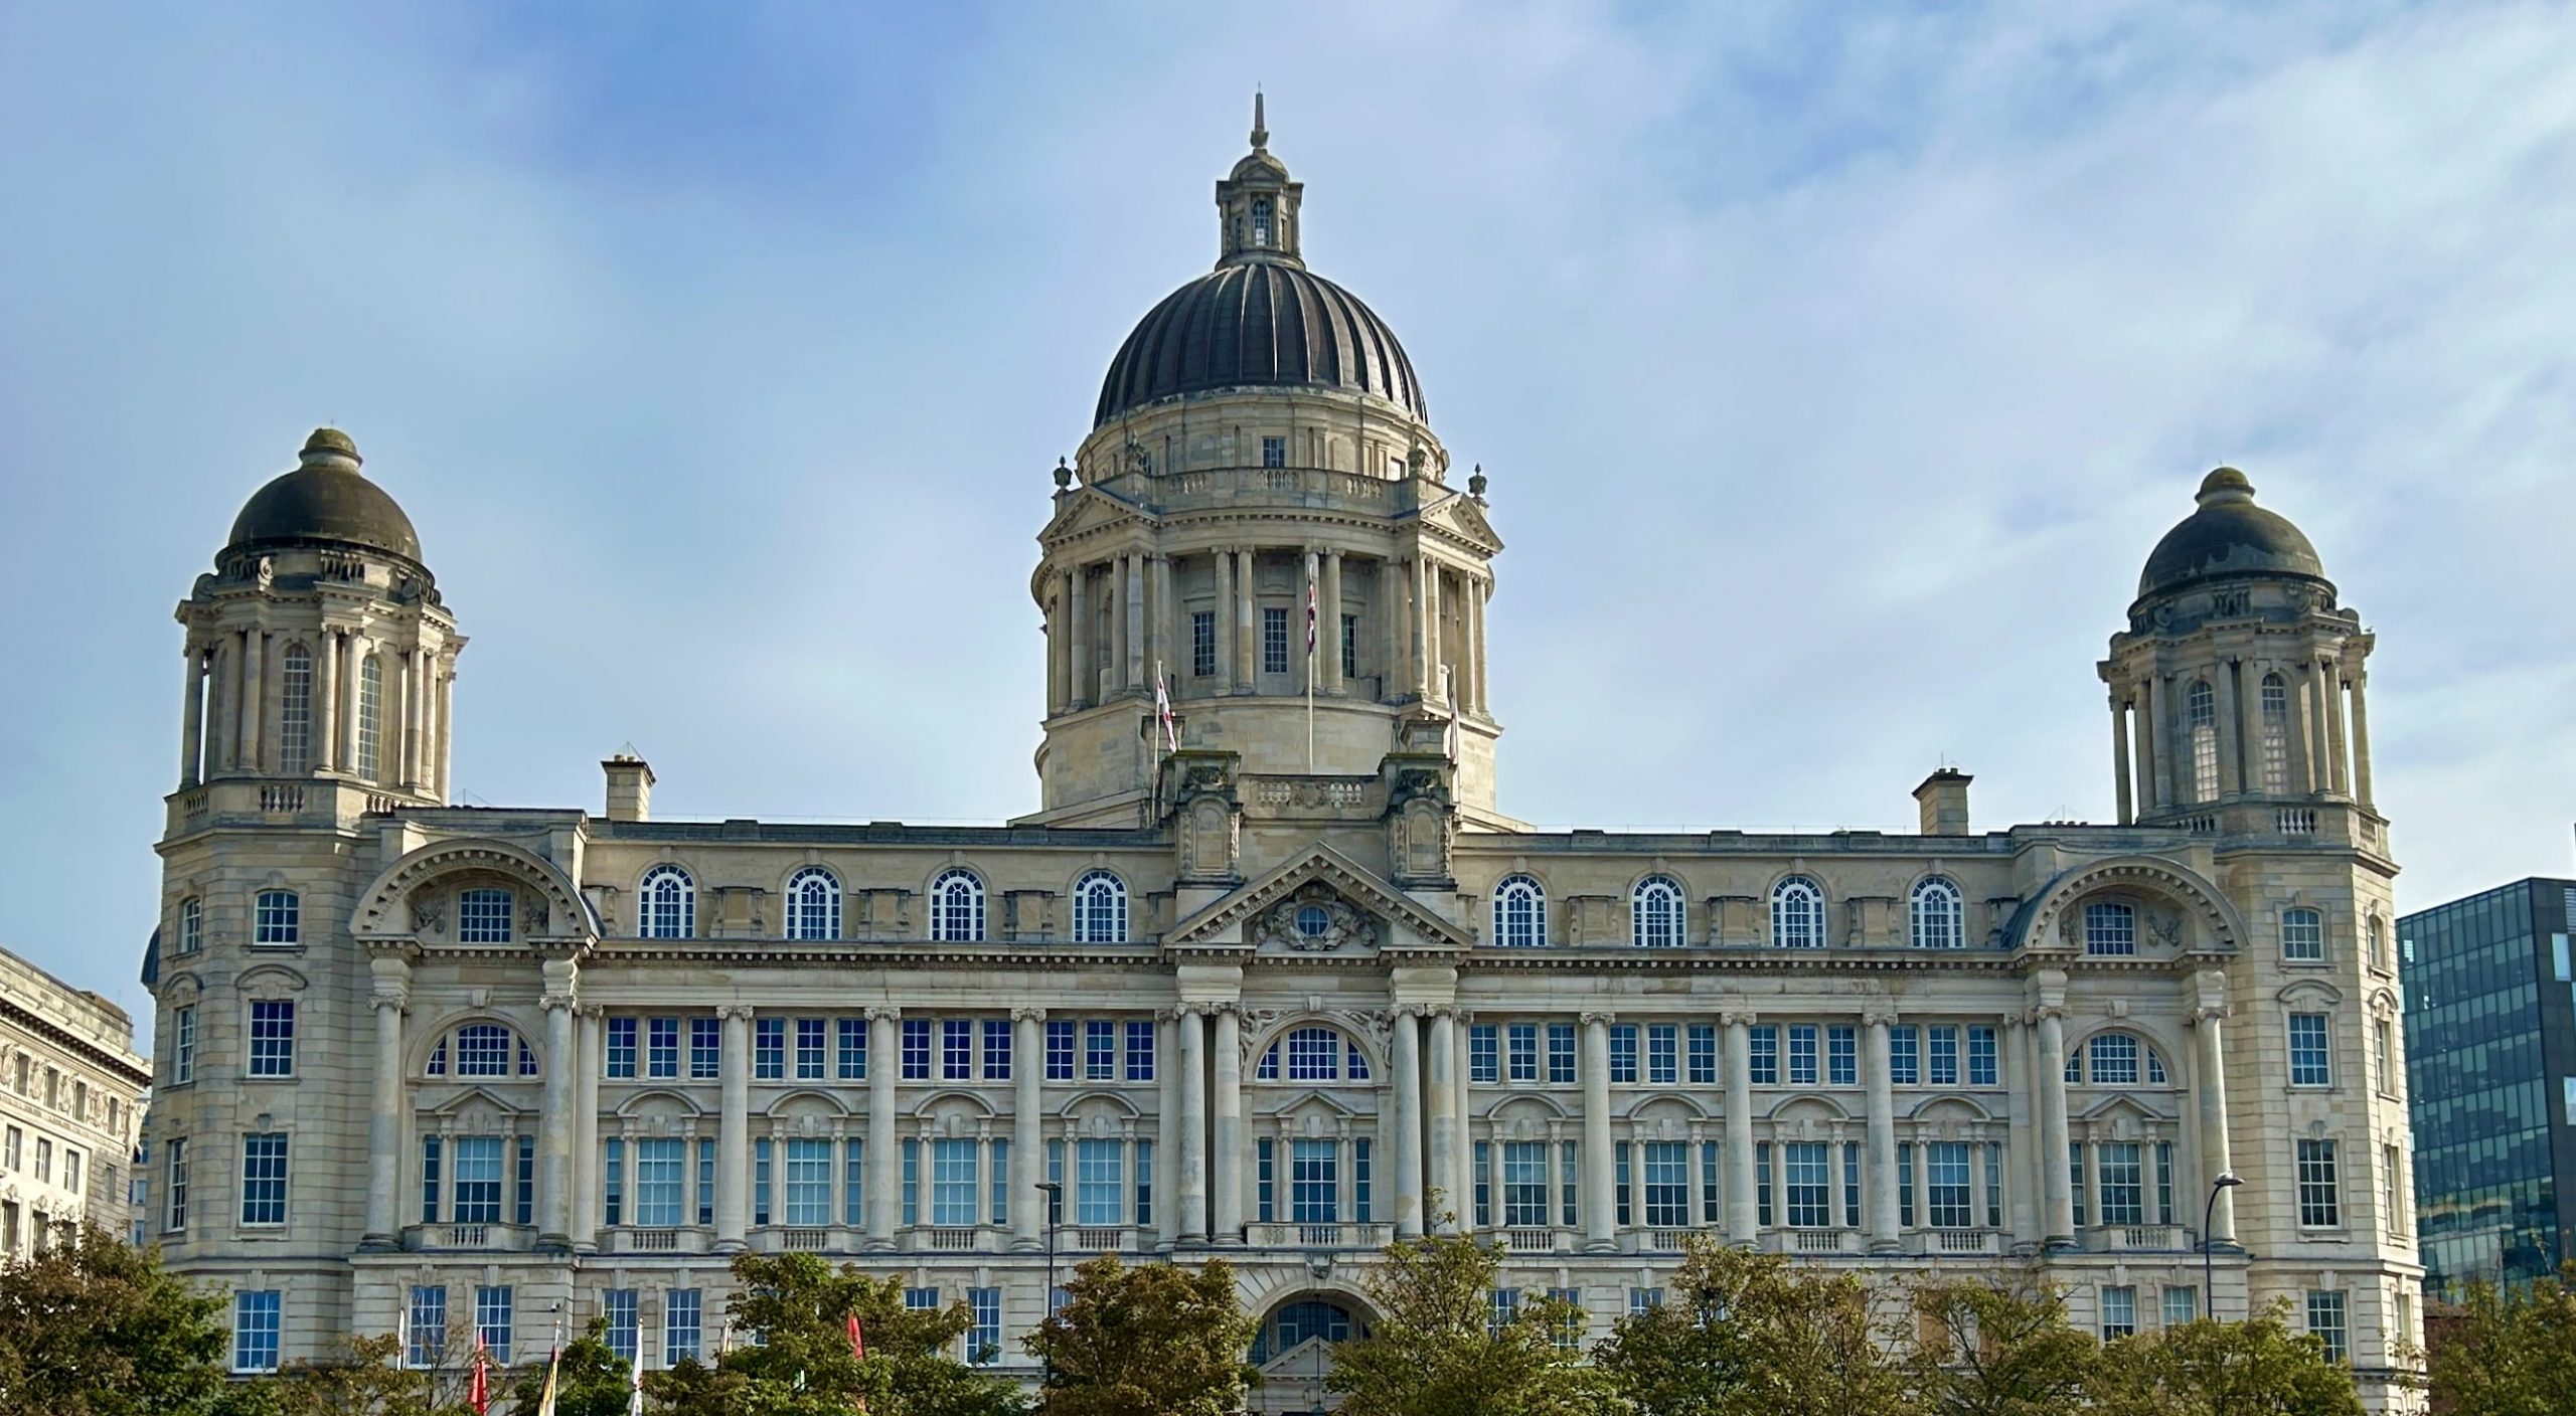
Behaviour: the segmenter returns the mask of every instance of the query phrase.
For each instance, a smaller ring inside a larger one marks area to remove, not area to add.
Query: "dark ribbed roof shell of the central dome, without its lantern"
[[[1229,260],[1146,312],[1110,360],[1092,427],[1175,394],[1242,386],[1376,394],[1430,420],[1414,363],[1360,296],[1293,260]]]

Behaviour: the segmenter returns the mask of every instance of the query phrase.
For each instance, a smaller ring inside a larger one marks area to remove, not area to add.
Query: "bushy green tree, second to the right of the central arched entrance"
[[[1669,1295],[1595,1352],[1638,1416],[1914,1411],[1896,1334],[1852,1274],[1692,1238]]]

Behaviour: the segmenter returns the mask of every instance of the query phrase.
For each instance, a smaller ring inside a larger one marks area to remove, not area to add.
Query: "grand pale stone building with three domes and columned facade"
[[[2221,469],[2154,548],[2115,824],[1978,832],[1945,770],[1919,834],[1535,832],[1486,479],[1301,201],[1255,126],[1054,471],[1007,826],[657,821],[631,757],[603,814],[448,806],[410,520],[332,430],[250,499],[180,605],[152,1112],[237,1362],[404,1316],[520,1354],[564,1305],[662,1365],[729,1254],[801,1249],[1025,1372],[1051,1246],[1224,1254],[1303,1411],[1378,1249],[1458,1225],[1595,1331],[1690,1233],[2035,1264],[2102,1331],[2287,1300],[2396,1401],[2396,865],[2308,541]]]

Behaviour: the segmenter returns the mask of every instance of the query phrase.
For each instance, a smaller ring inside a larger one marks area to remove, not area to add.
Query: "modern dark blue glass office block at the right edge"
[[[2576,1254],[2576,880],[2398,919],[2424,1285],[2527,1282]]]

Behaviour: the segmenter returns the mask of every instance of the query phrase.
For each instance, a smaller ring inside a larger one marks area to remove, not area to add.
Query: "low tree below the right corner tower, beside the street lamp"
[[[2102,1416],[2362,1416],[2352,1367],[2326,1344],[2290,1331],[2290,1305],[2244,1323],[2200,1318],[2102,1349],[2094,1408]]]

